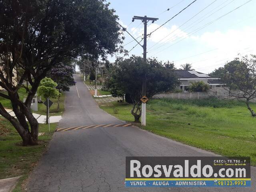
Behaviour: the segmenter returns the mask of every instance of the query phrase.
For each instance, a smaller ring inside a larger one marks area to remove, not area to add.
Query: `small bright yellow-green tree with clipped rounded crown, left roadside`
[[[46,100],[48,98],[58,98],[60,92],[56,89],[57,83],[51,78],[43,78],[37,89],[38,95],[43,96]],[[48,124],[48,107],[46,106],[46,124]]]

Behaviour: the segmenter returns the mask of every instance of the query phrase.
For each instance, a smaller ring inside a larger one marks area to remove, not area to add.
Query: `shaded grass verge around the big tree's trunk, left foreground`
[[[57,123],[39,124],[38,137],[40,145],[22,146],[22,139],[8,120],[0,117],[0,179],[27,175],[41,157],[52,138]]]

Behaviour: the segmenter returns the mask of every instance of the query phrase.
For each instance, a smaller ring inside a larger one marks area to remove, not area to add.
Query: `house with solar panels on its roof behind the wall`
[[[180,86],[178,89],[183,90],[184,92],[188,91],[191,82],[203,81],[206,84],[209,84],[210,89],[215,89],[216,87],[223,87],[224,84],[220,78],[210,77],[208,74],[197,72],[194,70],[174,70],[178,80],[180,81]]]

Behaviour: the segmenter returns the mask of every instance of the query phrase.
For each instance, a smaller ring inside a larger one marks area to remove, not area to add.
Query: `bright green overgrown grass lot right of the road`
[[[251,107],[256,110],[256,104]],[[112,102],[101,108],[121,120],[134,121],[130,104]],[[250,156],[256,166],[256,118],[242,102],[152,99],[146,114],[143,129],[223,156]]]

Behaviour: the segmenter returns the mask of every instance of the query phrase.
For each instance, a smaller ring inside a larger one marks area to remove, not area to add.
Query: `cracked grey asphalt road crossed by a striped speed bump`
[[[94,102],[82,79],[66,93],[66,110],[58,128],[121,124]],[[79,94],[79,96],[78,96]],[[126,156],[214,156],[136,127],[97,127],[55,132],[48,151],[30,174],[30,192],[254,192],[250,188],[125,188]]]

